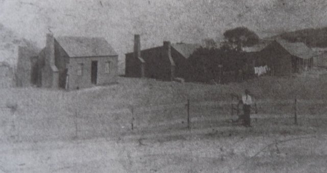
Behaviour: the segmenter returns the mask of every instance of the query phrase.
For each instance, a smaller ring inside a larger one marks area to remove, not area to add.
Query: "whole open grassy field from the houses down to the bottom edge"
[[[325,172],[326,84],[311,78],[228,85],[119,78],[117,84],[69,92],[2,89],[0,169]],[[258,104],[252,128],[230,123],[230,93],[244,88]],[[17,110],[11,111],[7,105],[14,103]]]

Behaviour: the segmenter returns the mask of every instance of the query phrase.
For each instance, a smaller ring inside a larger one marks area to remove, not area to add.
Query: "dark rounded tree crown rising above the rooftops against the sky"
[[[244,46],[253,46],[259,42],[259,36],[245,27],[237,27],[224,32],[230,46],[237,51],[241,51]]]

